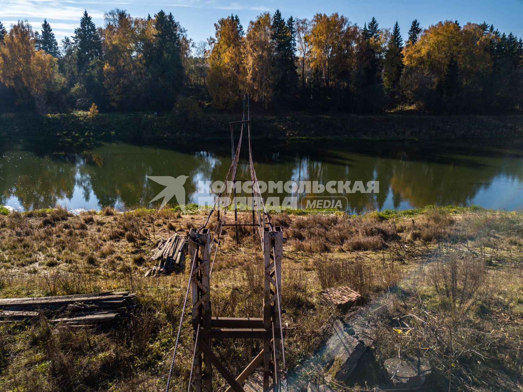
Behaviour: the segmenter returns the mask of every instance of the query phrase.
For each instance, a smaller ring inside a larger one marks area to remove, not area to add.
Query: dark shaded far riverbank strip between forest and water
[[[238,113],[204,112],[188,121],[181,114],[104,113],[0,114],[0,136],[51,137],[70,141],[149,139],[228,139]],[[430,140],[523,135],[523,115],[289,115],[253,114],[253,137],[260,139]]]

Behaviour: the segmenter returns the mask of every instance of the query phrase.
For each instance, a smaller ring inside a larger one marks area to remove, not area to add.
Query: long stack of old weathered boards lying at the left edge
[[[107,292],[0,299],[0,322],[47,317],[52,323],[69,326],[111,324],[131,316],[135,294]]]

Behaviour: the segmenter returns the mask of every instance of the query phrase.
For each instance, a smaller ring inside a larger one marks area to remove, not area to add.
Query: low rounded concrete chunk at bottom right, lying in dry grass
[[[418,388],[430,374],[431,367],[425,358],[395,357],[385,361],[385,370],[396,388]]]

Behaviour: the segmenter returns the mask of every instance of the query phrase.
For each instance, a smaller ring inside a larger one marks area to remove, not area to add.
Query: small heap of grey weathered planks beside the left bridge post
[[[145,276],[168,274],[176,265],[183,267],[186,245],[187,236],[183,234],[174,234],[166,240],[158,241],[151,257],[151,261],[157,261],[158,264],[147,271]]]

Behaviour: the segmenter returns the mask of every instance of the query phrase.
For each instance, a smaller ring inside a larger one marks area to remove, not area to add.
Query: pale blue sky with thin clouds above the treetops
[[[56,39],[71,36],[87,9],[97,26],[104,24],[104,12],[113,8],[126,9],[134,17],[153,16],[160,9],[172,12],[187,35],[195,42],[214,35],[214,23],[221,17],[235,14],[246,29],[249,20],[261,12],[271,14],[280,9],[285,18],[312,18],[316,13],[345,15],[351,22],[363,26],[372,17],[380,28],[392,28],[397,20],[403,38],[407,37],[413,19],[426,28],[440,20],[458,20],[493,24],[502,32],[512,31],[523,37],[523,0],[0,0],[0,21],[9,29],[19,19],[27,19],[33,29],[41,29],[44,18],[50,23]]]

